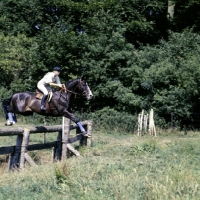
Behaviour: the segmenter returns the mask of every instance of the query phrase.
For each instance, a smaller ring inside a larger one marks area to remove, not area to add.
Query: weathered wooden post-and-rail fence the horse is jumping
[[[92,121],[81,122],[88,135],[92,136]],[[76,135],[69,138],[70,130],[76,129]],[[30,134],[34,133],[50,133],[58,132],[57,140],[43,144],[29,145]],[[55,126],[37,126],[31,128],[7,127],[0,128],[0,136],[16,136],[15,146],[0,147],[0,155],[9,154],[8,171],[15,168],[24,168],[25,161],[30,165],[36,165],[33,159],[28,155],[28,151],[42,150],[52,148],[53,161],[65,160],[67,158],[67,150],[76,156],[80,153],[74,149],[71,143],[80,141],[80,145],[90,146],[91,137],[85,137],[80,133],[76,124],[70,124],[70,120],[63,117],[62,125]]]

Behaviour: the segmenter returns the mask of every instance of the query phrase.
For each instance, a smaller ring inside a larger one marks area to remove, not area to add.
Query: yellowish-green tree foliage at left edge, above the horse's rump
[[[32,39],[25,35],[4,36],[0,34],[1,86],[13,92],[29,88],[30,51]]]

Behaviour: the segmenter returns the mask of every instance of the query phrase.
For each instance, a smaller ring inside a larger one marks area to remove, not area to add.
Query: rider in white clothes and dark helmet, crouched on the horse
[[[62,84],[60,83],[60,78],[59,78],[59,74],[61,72],[61,68],[58,66],[55,66],[53,68],[53,72],[48,72],[46,75],[44,75],[44,77],[38,82],[37,84],[37,88],[43,92],[43,97],[41,100],[41,106],[40,109],[41,110],[46,110],[45,107],[45,101],[47,99],[47,95],[48,95],[48,90],[51,91],[51,87],[50,86],[57,86],[57,87],[61,87],[62,88]]]

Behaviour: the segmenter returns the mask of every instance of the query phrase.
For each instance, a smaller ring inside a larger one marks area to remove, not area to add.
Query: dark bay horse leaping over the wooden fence
[[[16,116],[15,114],[29,116],[33,113],[52,117],[64,116],[75,122],[80,128],[82,135],[87,136],[80,120],[71,112],[73,101],[77,95],[85,97],[87,100],[93,97],[86,79],[84,77],[77,78],[66,82],[63,86],[60,91],[53,91],[50,101],[46,101],[46,110],[40,109],[41,99],[36,97],[36,92],[18,92],[13,94],[9,99],[3,100],[2,103],[4,110],[7,112],[7,118],[10,117],[9,114],[11,116]]]

